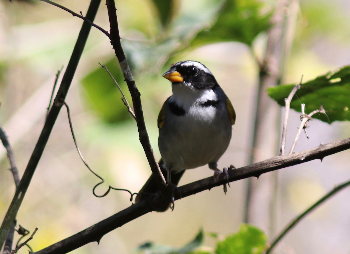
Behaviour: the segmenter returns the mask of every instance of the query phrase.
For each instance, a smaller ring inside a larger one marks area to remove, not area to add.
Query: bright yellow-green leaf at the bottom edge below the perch
[[[266,235],[259,228],[241,225],[239,232],[217,243],[217,254],[259,254],[265,250]]]

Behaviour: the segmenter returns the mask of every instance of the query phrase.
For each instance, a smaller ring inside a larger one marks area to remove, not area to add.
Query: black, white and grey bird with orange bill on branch
[[[206,164],[218,179],[222,171],[217,162],[229,146],[236,120],[229,98],[200,62],[173,64],[163,77],[173,89],[158,116],[160,164],[167,183],[177,185],[184,170]],[[151,176],[140,193],[157,191],[153,181]]]

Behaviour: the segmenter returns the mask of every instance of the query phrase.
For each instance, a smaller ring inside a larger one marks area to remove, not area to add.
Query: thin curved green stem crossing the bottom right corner
[[[328,200],[330,197],[332,197],[333,195],[335,195],[336,193],[338,193],[339,191],[343,190],[344,188],[350,186],[350,181],[347,181],[345,183],[339,184],[338,186],[336,186],[333,190],[331,190],[330,192],[328,192],[326,195],[324,195],[322,198],[320,198],[319,200],[317,200],[316,203],[314,203],[313,205],[311,205],[308,209],[306,209],[304,212],[302,212],[300,215],[298,215],[297,217],[295,217],[292,221],[290,221],[290,223],[285,227],[285,229],[278,235],[278,237],[275,238],[275,240],[273,240],[272,244],[270,245],[270,247],[267,249],[267,251],[265,252],[265,254],[269,254],[272,249],[275,247],[276,244],[278,244],[278,242],[290,231],[292,230],[293,227],[296,226],[296,224],[298,224],[305,216],[307,216],[310,212],[312,212],[313,210],[315,210],[318,206],[320,206],[323,202],[325,202],[326,200]]]

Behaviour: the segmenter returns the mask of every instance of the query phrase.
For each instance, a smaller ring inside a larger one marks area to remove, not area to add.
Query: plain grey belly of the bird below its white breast
[[[165,166],[173,171],[217,162],[227,149],[232,127],[229,121],[210,123],[178,117],[160,130],[158,145]],[[222,119],[222,118],[221,118]]]

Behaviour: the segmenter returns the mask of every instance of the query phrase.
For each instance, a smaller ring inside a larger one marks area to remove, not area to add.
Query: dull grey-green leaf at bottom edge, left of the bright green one
[[[137,253],[142,254],[186,254],[186,253],[207,253],[207,252],[195,252],[195,249],[203,244],[204,233],[200,230],[196,237],[188,244],[181,248],[173,248],[164,245],[157,245],[153,242],[146,242],[138,247]]]

